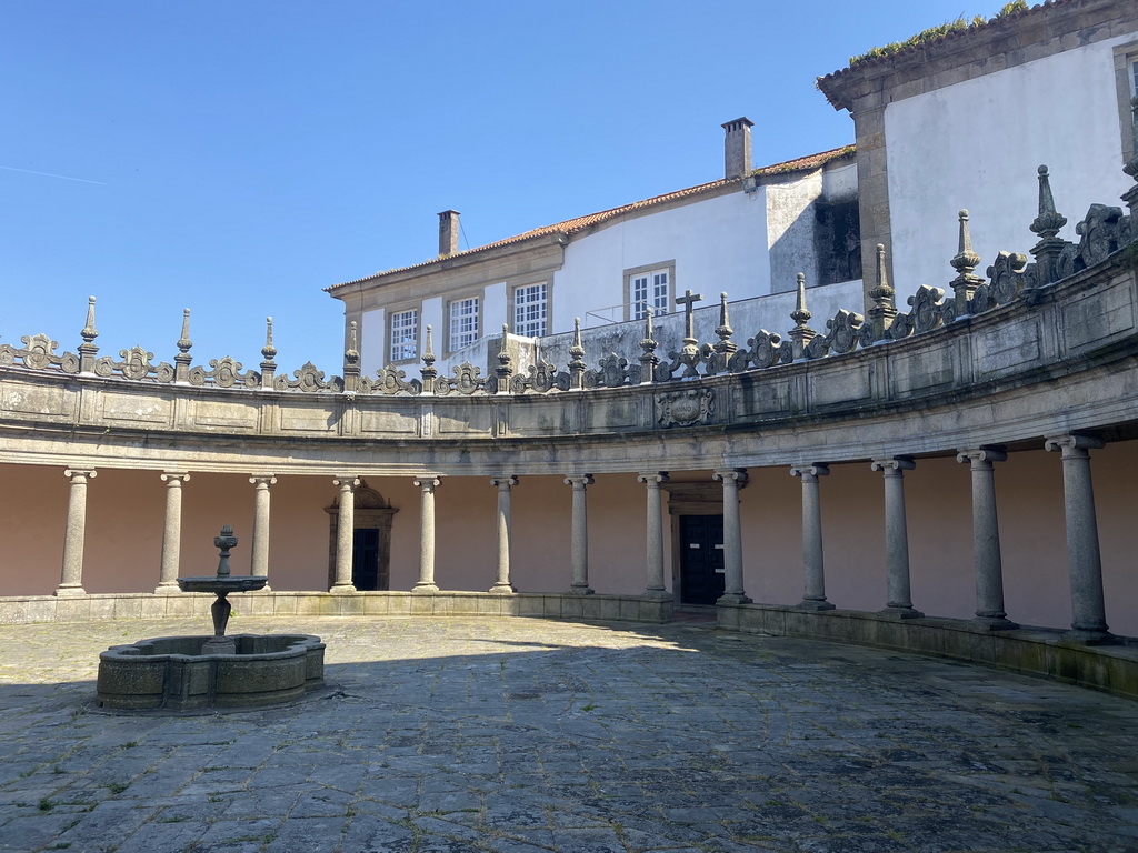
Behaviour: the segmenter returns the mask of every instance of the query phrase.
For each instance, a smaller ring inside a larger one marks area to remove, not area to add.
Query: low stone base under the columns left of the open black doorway
[[[94,619],[209,619],[213,595],[151,593],[0,598],[0,624],[85,622]],[[667,622],[661,596],[571,593],[250,593],[230,598],[233,616],[542,616]]]

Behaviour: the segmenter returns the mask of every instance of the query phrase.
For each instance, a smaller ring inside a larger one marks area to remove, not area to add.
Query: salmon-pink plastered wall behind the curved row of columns
[[[1091,453],[1111,629],[1138,636],[1138,571],[1132,546],[1138,441]],[[1024,450],[996,463],[1007,613],[1025,626],[1071,621],[1057,453]],[[801,483],[789,466],[752,469],[741,492],[744,586],[756,602],[802,596]],[[677,472],[674,480],[710,480]],[[68,481],[63,469],[0,465],[0,595],[48,595],[59,583]],[[420,490],[413,478],[368,485],[398,510],[391,529],[390,588],[418,580]],[[513,492],[512,579],[522,591],[569,588],[572,490],[563,477],[525,477]],[[327,589],[331,477],[279,477],[272,488],[270,583]],[[597,593],[638,594],[646,585],[645,487],[635,474],[599,474],[588,488],[589,582]],[[839,607],[885,604],[883,485],[868,462],[832,465],[820,480],[826,593]],[[929,615],[970,618],[971,473],[955,457],[923,458],[905,473],[913,604]],[[99,470],[88,490],[83,585],[90,593],[157,586],[166,486],[155,471]],[[665,496],[666,497],[666,496]],[[231,524],[240,537],[234,571],[248,571],[254,488],[247,475],[192,473],[182,491],[181,574],[216,569],[213,537]],[[671,586],[674,519],[663,502],[666,583]],[[436,571],[443,589],[486,590],[495,579],[496,489],[488,478],[443,478],[436,491]]]

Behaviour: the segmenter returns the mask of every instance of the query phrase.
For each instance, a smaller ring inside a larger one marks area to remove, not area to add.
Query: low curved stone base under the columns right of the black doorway
[[[992,631],[965,619],[897,619],[888,613],[815,612],[770,604],[719,605],[716,611],[721,630],[950,657],[1138,699],[1138,638],[1116,637],[1113,645],[1088,646],[1055,628]]]

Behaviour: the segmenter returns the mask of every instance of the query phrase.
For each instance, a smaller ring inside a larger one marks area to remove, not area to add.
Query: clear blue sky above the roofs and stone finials
[[[1001,0],[0,0],[0,342],[339,373],[322,289],[853,141],[815,78]],[[560,330],[558,330],[560,331]]]

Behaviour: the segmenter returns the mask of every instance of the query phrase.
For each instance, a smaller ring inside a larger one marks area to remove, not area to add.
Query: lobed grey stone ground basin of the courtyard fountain
[[[324,644],[307,633],[226,637],[236,654],[201,654],[209,636],[157,637],[99,655],[96,702],[122,710],[257,707],[324,684]]]

